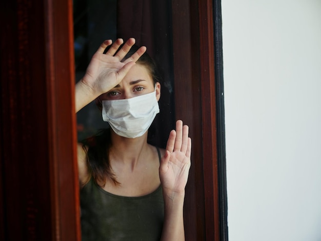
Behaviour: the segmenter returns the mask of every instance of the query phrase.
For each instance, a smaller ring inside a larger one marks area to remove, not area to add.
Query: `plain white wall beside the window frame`
[[[321,1],[222,0],[230,241],[321,240]]]

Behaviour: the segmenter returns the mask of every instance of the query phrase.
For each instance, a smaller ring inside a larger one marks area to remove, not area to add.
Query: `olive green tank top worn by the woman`
[[[91,179],[80,191],[80,199],[82,241],[160,239],[164,222],[161,186],[148,195],[125,197],[105,191]]]

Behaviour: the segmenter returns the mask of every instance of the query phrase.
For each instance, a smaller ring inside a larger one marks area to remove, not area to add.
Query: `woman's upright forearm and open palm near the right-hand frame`
[[[191,138],[188,137],[188,126],[177,121],[176,131],[172,130],[169,135],[166,153],[159,167],[165,204],[161,240],[185,240],[183,205],[191,166],[190,156]]]

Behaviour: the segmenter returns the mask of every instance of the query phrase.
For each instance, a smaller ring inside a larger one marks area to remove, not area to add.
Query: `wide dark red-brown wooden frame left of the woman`
[[[80,240],[72,0],[1,10],[1,240]]]

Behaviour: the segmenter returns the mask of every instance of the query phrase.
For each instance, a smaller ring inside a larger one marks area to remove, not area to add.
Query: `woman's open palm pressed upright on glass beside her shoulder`
[[[182,121],[177,121],[176,131],[172,130],[169,134],[166,152],[159,167],[163,193],[169,198],[173,198],[176,194],[185,194],[191,166],[190,157],[191,138],[188,137],[188,126],[183,126]]]

